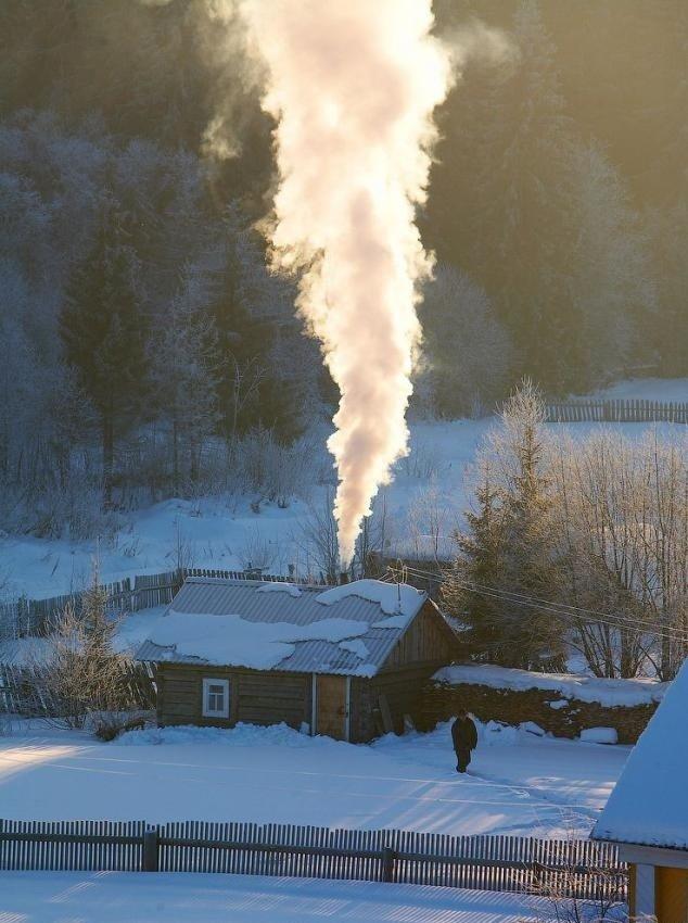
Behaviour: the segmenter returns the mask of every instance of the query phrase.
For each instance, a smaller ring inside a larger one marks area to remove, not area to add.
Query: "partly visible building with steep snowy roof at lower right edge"
[[[632,918],[688,923],[688,660],[619,777],[595,839],[629,863]]]

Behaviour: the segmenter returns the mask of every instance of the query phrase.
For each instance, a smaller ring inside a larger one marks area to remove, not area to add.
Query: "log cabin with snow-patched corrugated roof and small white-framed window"
[[[158,724],[284,721],[361,742],[415,717],[457,647],[407,584],[189,578],[137,658],[156,665]]]

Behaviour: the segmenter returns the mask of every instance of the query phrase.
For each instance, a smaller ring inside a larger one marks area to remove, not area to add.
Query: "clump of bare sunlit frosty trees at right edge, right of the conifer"
[[[574,644],[597,675],[671,679],[688,650],[685,435],[562,435],[550,456],[561,593],[582,611]]]

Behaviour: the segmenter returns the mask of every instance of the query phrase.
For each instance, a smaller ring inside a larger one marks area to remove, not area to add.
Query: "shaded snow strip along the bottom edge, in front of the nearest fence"
[[[375,882],[125,872],[0,872],[2,923],[517,923],[522,895]]]

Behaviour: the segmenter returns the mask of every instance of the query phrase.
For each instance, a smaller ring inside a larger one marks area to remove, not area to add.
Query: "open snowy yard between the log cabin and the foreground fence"
[[[253,821],[446,834],[586,835],[627,747],[481,729],[459,776],[447,724],[354,746],[284,725],[157,729],[101,744],[0,737],[0,817]]]

